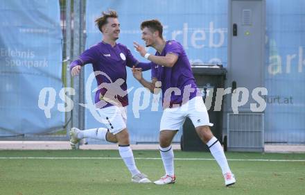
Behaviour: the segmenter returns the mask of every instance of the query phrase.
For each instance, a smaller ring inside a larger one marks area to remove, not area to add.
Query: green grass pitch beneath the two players
[[[175,151],[177,181],[159,186],[131,183],[118,151],[0,151],[0,194],[305,195],[304,153],[226,155],[237,180],[232,187],[225,187],[215,160],[202,160],[210,153]],[[164,175],[159,151],[134,151],[134,157],[150,180]]]

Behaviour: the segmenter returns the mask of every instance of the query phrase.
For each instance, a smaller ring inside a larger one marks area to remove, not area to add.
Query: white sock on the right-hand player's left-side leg
[[[166,175],[175,176],[174,173],[174,152],[172,146],[168,146],[166,148],[162,148],[160,146],[160,154],[163,161],[164,169]]]

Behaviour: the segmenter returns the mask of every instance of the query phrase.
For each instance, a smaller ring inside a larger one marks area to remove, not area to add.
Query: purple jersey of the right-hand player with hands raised
[[[151,67],[152,78],[157,78],[162,83],[164,109],[181,106],[197,96],[197,92],[199,92],[191,71],[189,58],[187,58],[182,45],[175,40],[167,41],[162,53],[157,51],[155,56],[166,56],[168,53],[178,56],[173,67],[164,67],[155,63],[152,63]],[[174,104],[176,106],[173,106]]]

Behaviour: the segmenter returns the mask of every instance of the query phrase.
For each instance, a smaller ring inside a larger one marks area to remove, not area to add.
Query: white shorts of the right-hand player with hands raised
[[[209,122],[207,108],[201,96],[196,96],[179,108],[166,108],[160,123],[160,130],[179,130],[189,117],[195,127],[213,126]]]

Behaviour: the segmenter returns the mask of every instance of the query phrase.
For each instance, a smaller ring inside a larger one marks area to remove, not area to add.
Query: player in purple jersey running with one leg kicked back
[[[103,15],[95,22],[103,34],[103,41],[84,51],[77,60],[71,63],[70,69],[72,76],[76,76],[80,73],[82,66],[89,63],[93,65],[98,83],[95,105],[108,129],[71,128],[72,149],[82,138],[118,142],[119,153],[132,174],[132,182],[150,183],[147,176],[136,167],[126,128],[126,106],[128,105],[126,66],[136,66],[148,70],[150,64],[138,62],[126,46],[116,43],[116,40],[119,39],[120,24],[115,11],[103,12]]]

